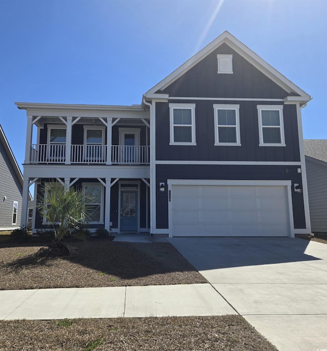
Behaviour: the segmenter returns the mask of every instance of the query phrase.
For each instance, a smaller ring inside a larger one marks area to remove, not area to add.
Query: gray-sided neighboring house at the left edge
[[[22,174],[1,125],[0,180],[0,230],[18,228],[22,203]]]

